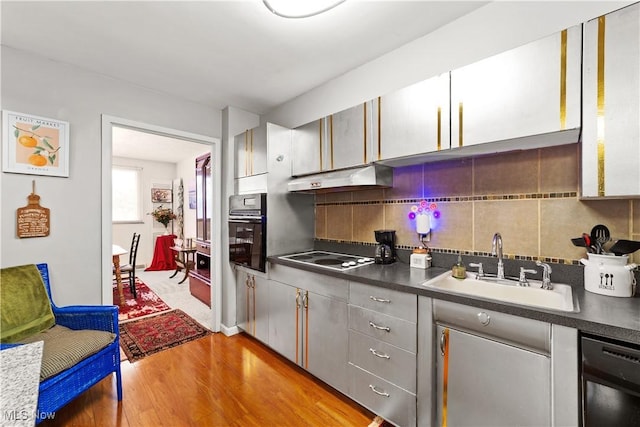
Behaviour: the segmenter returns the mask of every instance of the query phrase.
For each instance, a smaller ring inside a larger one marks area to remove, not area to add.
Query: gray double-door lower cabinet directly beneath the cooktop
[[[271,281],[269,346],[346,393],[347,301],[334,295],[342,288],[346,296],[347,282],[283,266],[272,277],[287,282]]]

